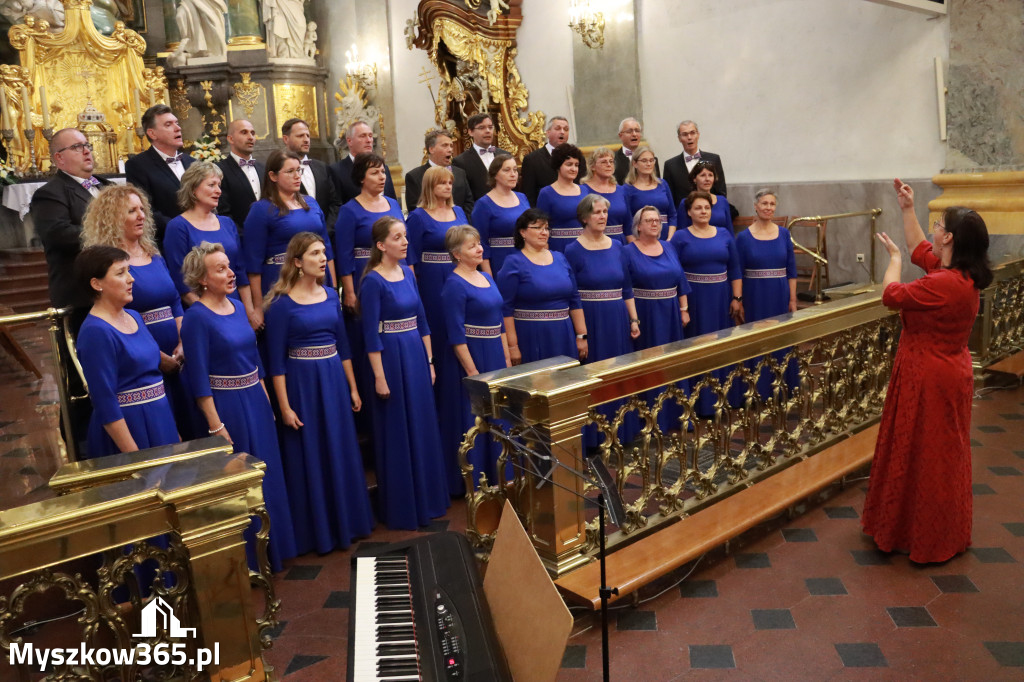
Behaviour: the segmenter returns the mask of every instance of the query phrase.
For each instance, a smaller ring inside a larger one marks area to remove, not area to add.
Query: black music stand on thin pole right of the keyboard
[[[608,518],[611,520],[611,522],[620,527],[622,527],[623,522],[626,518],[626,513],[623,508],[623,500],[622,497],[618,495],[618,491],[615,489],[614,485],[612,484],[613,481],[611,479],[611,473],[608,471],[608,467],[604,464],[604,461],[601,460],[600,457],[592,457],[587,460],[587,467],[591,471],[591,475],[587,475],[587,473],[583,471],[579,471],[566,464],[562,464],[562,462],[559,461],[558,458],[555,457],[554,455],[543,455],[535,450],[527,447],[518,440],[510,438],[505,433],[501,432],[499,429],[493,429],[490,431],[490,435],[499,440],[504,440],[505,442],[508,442],[509,444],[512,445],[512,447],[516,452],[526,456],[527,461],[530,462],[531,464],[531,466],[528,468],[520,465],[517,462],[512,462],[511,460],[509,461],[509,464],[519,469],[520,471],[523,471],[525,473],[532,473],[539,476],[541,480],[538,481],[538,487],[543,485],[545,482],[548,482],[556,487],[560,487],[563,491],[571,493],[572,495],[582,499],[584,503],[590,502],[589,500],[587,500],[585,496],[581,495],[577,491],[567,487],[565,485],[562,485],[560,483],[556,483],[554,480],[552,480],[551,471],[554,470],[554,467],[549,469],[547,473],[544,473],[537,466],[535,458],[536,460],[553,464],[555,467],[561,467],[562,469],[568,471],[580,480],[586,483],[590,483],[595,487],[597,487],[598,489],[597,501],[596,501],[597,518],[598,518],[597,560],[601,566],[601,585],[598,587],[597,593],[601,598],[601,669],[604,681],[608,682],[608,680],[611,679],[609,647],[608,647],[608,600],[611,598],[612,595],[618,594],[618,588],[608,587],[607,584],[608,583],[607,571],[606,571],[607,564],[605,562],[607,547],[604,539],[604,513],[607,512]]]

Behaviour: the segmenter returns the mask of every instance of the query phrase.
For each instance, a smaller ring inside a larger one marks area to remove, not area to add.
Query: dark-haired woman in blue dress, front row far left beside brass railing
[[[132,302],[128,253],[90,246],[75,260],[92,309],[78,333],[78,353],[89,386],[89,458],[177,442],[174,414],[164,392],[160,346]]]

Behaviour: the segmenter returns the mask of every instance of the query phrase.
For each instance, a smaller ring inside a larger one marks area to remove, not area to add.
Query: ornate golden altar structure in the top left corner
[[[39,87],[46,86],[48,114],[52,130],[78,126],[78,116],[92,105],[103,115],[117,132],[117,153],[126,157],[136,151],[137,140],[132,131],[137,124],[131,102],[138,92],[142,109],[160,100],[167,80],[163,68],[146,69],[142,62],[145,41],[131,29],[118,22],[110,36],[100,34],[92,22],[92,0],[66,0],[65,26],[53,33],[46,22],[26,17],[24,24],[11,27],[11,47],[18,52],[23,73],[28,73],[31,91],[30,105],[35,110],[41,104]],[[20,113],[22,102],[9,78],[3,78],[3,87],[12,110]],[[15,116],[12,111],[12,116]],[[33,113],[33,128],[42,125],[42,117]],[[15,126],[11,154],[15,164],[29,161],[25,133]],[[48,157],[42,136],[36,136],[37,157]],[[116,159],[101,160],[116,164]],[[106,165],[103,164],[103,165]]]

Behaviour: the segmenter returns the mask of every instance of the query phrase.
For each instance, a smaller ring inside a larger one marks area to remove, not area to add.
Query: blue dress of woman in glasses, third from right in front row
[[[662,253],[653,257],[640,251],[636,242],[625,248],[626,263],[633,284],[633,301],[640,321],[640,338],[635,341],[637,350],[683,339],[679,297],[688,296],[690,286],[683,274],[675,249],[668,242],[660,244]],[[687,389],[685,381],[676,385],[683,390]],[[653,403],[660,390],[648,391],[647,400]],[[681,416],[682,410],[678,403],[667,401],[658,414],[658,426],[663,431],[678,429]]]

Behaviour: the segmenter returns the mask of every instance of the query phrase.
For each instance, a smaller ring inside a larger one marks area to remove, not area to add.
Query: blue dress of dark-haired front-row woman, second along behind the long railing
[[[575,330],[569,318],[569,310],[581,307],[575,275],[565,256],[557,251],[551,255],[551,263],[537,265],[518,251],[505,259],[498,273],[498,290],[504,301],[502,314],[515,319],[523,363],[557,355],[579,356]]]

